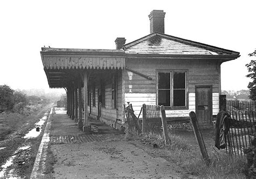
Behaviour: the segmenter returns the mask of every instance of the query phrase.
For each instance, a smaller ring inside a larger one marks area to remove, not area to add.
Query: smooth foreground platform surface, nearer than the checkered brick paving
[[[154,156],[151,147],[136,141],[86,142],[52,145],[56,178],[180,177],[176,164]]]

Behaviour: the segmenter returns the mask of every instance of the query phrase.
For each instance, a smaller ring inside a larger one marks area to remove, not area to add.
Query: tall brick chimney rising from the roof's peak
[[[164,33],[164,17],[165,12],[163,10],[153,10],[150,12],[150,33]]]

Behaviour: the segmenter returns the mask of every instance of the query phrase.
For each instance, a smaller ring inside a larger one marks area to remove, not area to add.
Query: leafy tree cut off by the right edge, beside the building
[[[256,50],[253,53],[248,54],[248,56],[256,56]],[[246,75],[246,77],[251,78],[252,82],[249,82],[248,88],[250,90],[249,98],[253,101],[256,100],[256,60],[251,60],[249,64],[246,64],[246,67],[248,68],[249,74]]]

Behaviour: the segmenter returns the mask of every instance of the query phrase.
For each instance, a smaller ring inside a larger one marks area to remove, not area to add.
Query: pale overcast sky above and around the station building
[[[149,35],[152,10],[165,33],[240,52],[221,65],[223,90],[247,89],[245,64],[256,48],[256,1],[0,1],[0,85],[49,89],[41,47],[115,49]]]

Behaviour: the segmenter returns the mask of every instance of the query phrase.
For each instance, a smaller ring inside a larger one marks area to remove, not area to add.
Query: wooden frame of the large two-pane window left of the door
[[[187,69],[164,69],[164,70],[156,70],[156,76],[157,76],[157,81],[156,81],[156,89],[157,89],[157,94],[156,94],[156,104],[158,105],[158,91],[161,89],[158,89],[158,81],[159,81],[159,74],[158,73],[170,73],[170,104],[171,106],[165,106],[165,109],[167,110],[181,110],[181,109],[188,109],[188,80],[187,80]],[[185,73],[185,106],[173,106],[173,74],[175,72],[182,72]]]

